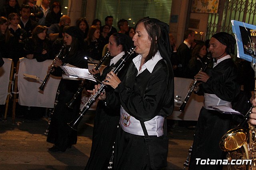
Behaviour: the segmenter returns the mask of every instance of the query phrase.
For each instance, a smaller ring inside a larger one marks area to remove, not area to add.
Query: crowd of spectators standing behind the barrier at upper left
[[[89,25],[85,17],[77,18],[75,23],[81,31],[88,62],[97,63],[104,47],[107,51],[109,37],[118,32],[112,26],[113,17],[106,16],[104,26],[99,19]],[[41,0],[38,6],[36,0],[20,4],[17,0],[6,0],[0,11],[0,55],[12,59],[15,68],[21,57],[38,62],[54,59],[63,45],[63,30],[70,24],[71,18],[62,15],[59,2]],[[134,28],[129,27],[127,20],[121,19],[117,27],[132,40]]]

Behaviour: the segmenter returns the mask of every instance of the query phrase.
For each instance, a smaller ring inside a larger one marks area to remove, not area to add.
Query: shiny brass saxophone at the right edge
[[[255,72],[256,83],[256,58],[252,57],[251,66]],[[254,89],[254,97],[256,96],[256,84]],[[220,140],[220,148],[228,152],[228,170],[256,170],[256,129],[248,123],[249,128],[244,128],[244,125],[250,118],[252,108],[246,113],[242,122],[236,127],[224,134]],[[231,164],[232,160],[244,160],[242,164]]]

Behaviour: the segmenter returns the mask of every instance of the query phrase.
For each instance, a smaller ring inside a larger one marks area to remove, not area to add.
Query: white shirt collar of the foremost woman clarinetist
[[[150,73],[152,73],[156,63],[162,59],[159,51],[156,52],[156,54],[154,55],[154,57],[152,57],[152,59],[148,60],[146,63],[144,63],[142,65],[142,69],[139,71],[140,69],[140,61],[141,61],[142,56],[139,54],[137,55],[134,59],[132,59],[134,65],[136,66],[137,70],[138,70],[138,74],[141,73],[142,71],[144,71],[145,69],[148,69],[148,71]]]

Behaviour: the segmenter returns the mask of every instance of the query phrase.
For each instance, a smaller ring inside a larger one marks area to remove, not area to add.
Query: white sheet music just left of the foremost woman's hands
[[[95,81],[88,69],[81,69],[69,66],[60,66],[70,78],[82,78]]]

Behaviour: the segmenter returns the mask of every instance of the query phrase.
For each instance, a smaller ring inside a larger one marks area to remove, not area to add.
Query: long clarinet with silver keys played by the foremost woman
[[[125,62],[128,60],[128,58],[132,55],[132,53],[134,53],[135,51],[135,46],[132,47],[127,53],[127,55],[125,55],[124,57],[121,58],[120,63],[118,64],[117,67],[114,67],[112,69],[112,71],[117,74],[120,69],[122,69],[122,67],[124,66]],[[108,81],[106,81],[108,82]],[[86,114],[86,112],[90,109],[90,107],[92,106],[92,104],[96,101],[96,99],[98,99],[98,97],[100,96],[100,93],[103,93],[105,91],[105,84],[101,84],[100,88],[98,89],[98,91],[95,93],[95,95],[91,95],[90,98],[88,99],[88,101],[85,103],[84,107],[82,107],[82,109],[80,110],[78,116],[71,121],[70,123],[68,123],[68,125],[74,129],[77,130],[78,124],[80,123],[80,121],[82,120],[82,118],[84,117],[84,115]]]

